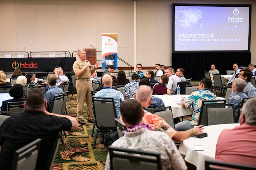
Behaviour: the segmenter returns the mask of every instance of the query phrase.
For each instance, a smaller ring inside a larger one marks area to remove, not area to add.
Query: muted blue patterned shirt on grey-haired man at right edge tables
[[[244,92],[238,92],[235,93],[234,96],[231,96],[228,104],[233,104],[234,105],[234,109],[235,109],[235,119],[237,119],[237,115],[240,112],[240,105],[242,103],[242,99],[244,97],[248,97]],[[236,122],[235,122],[236,123]]]

